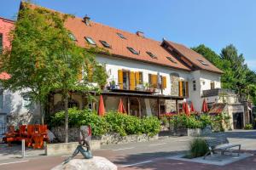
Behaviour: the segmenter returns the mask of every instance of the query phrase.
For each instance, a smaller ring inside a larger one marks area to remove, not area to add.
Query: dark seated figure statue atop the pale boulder
[[[80,127],[80,135],[79,135],[79,145],[76,148],[76,150],[74,150],[73,155],[69,156],[65,161],[64,164],[66,164],[68,161],[72,160],[75,156],[77,156],[79,154],[79,152],[82,154],[82,156],[84,156],[85,159],[90,159],[92,158],[92,154],[90,151],[90,127],[89,126],[81,126]],[[84,148],[86,148],[84,150]]]

